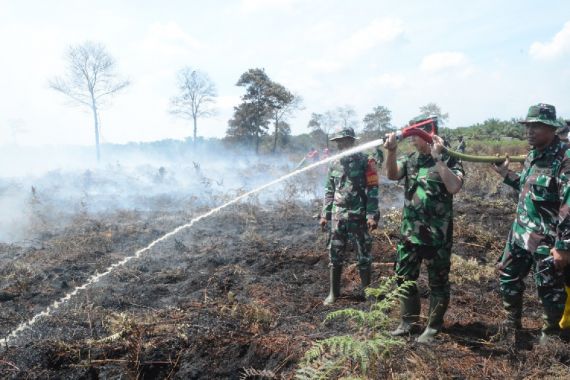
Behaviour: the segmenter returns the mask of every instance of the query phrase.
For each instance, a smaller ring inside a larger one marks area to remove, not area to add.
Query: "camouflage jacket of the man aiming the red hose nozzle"
[[[447,167],[463,177],[461,162],[443,155]],[[429,154],[411,153],[398,160],[403,175],[404,210],[400,233],[412,244],[441,247],[453,235],[453,195],[447,191]]]

